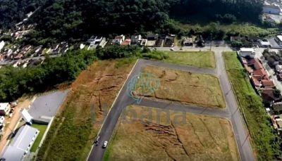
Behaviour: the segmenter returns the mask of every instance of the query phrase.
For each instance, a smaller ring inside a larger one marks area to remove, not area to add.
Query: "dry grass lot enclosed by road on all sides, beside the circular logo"
[[[144,67],[142,71],[151,73],[160,79],[160,86],[157,91],[147,97],[210,108],[226,108],[219,79],[214,75],[183,72],[155,66]],[[137,86],[135,95],[140,94],[142,94],[142,91]]]

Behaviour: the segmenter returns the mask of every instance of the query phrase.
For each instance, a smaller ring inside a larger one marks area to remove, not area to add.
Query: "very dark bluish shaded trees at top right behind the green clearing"
[[[185,22],[191,19],[259,22],[263,4],[264,0],[181,0],[171,8],[171,15]]]

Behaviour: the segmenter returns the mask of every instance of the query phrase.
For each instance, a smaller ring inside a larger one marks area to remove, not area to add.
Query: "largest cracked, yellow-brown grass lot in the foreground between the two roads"
[[[168,117],[130,106],[112,137],[104,160],[239,160],[231,124],[221,117],[175,111]]]

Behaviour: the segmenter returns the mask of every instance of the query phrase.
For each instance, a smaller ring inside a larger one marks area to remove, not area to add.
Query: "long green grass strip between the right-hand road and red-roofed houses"
[[[243,112],[247,129],[250,132],[251,144],[257,160],[274,160],[274,134],[264,111],[262,99],[252,88],[245,69],[240,64],[235,52],[223,53],[226,70]]]

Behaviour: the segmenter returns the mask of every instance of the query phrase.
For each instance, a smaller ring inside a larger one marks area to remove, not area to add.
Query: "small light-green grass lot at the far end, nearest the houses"
[[[211,51],[166,51],[167,63],[215,68],[216,61]]]

